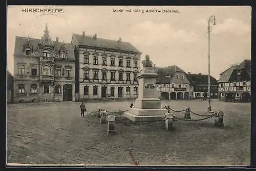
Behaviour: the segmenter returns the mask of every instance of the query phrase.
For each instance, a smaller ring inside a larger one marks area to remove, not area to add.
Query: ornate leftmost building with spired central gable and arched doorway
[[[14,102],[75,100],[75,57],[70,43],[16,36]]]

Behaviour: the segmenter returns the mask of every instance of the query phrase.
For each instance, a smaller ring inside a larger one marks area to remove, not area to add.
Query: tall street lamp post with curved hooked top
[[[216,25],[216,18],[214,15],[211,15],[208,19],[208,101],[209,107],[207,108],[207,112],[211,112],[211,105],[210,105],[210,22],[213,22],[213,25]]]

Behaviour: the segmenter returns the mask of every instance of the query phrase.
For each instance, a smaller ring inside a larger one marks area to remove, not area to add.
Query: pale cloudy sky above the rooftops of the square
[[[25,13],[23,8],[62,8],[63,13]],[[179,13],[114,13],[113,9],[177,9]],[[52,15],[54,14],[54,15]],[[46,23],[53,40],[71,42],[72,33],[131,42],[158,67],[177,65],[208,74],[207,20],[211,75],[216,79],[232,64],[251,59],[251,8],[217,6],[8,6],[7,68],[13,73],[15,36],[40,38]]]

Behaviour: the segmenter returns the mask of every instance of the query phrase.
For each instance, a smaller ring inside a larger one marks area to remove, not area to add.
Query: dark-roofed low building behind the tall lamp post
[[[187,75],[194,86],[194,98],[203,98],[204,96],[209,97],[208,75],[202,75],[201,73],[190,74],[190,72],[188,72]],[[218,99],[218,82],[214,77],[210,76],[210,99],[216,98]]]

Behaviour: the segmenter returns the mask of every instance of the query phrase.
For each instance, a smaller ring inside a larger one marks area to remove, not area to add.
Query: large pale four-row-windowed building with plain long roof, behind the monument
[[[131,43],[73,34],[76,100],[136,99],[139,52]]]

